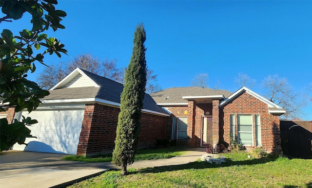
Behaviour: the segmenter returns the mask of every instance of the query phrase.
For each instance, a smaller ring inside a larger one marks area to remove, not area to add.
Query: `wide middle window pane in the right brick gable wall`
[[[253,116],[237,115],[238,142],[243,145],[253,145]]]

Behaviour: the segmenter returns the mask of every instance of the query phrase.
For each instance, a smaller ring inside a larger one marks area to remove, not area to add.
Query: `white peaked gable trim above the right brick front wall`
[[[235,91],[231,96],[229,96],[224,101],[221,101],[220,104],[219,104],[219,107],[222,107],[222,106],[226,105],[227,103],[232,101],[232,99],[235,99],[235,97],[237,97],[238,95],[240,95],[243,92],[246,92],[246,93],[254,96],[256,99],[262,101],[263,103],[268,104],[269,113],[271,113],[271,114],[282,115],[282,114],[286,113],[286,110],[284,108],[282,108],[279,105],[273,103],[272,101],[269,101],[268,99],[262,97],[261,95],[255,93],[254,91],[252,91],[251,89],[249,89],[249,88],[247,88],[245,86],[243,86],[240,89],[238,89],[237,91]]]

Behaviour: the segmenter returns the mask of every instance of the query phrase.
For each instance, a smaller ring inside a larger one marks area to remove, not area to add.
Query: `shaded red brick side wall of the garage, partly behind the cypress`
[[[77,154],[112,152],[115,147],[119,108],[86,104]],[[153,145],[165,137],[166,117],[142,113],[138,147]]]

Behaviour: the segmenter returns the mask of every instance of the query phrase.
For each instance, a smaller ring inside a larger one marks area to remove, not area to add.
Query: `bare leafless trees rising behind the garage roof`
[[[49,67],[45,67],[37,77],[38,85],[41,88],[50,89],[75,68],[87,70],[119,83],[123,82],[123,71],[121,68],[117,68],[116,59],[101,60],[90,53],[85,53],[77,55],[69,62],[59,62],[59,64],[51,64]]]

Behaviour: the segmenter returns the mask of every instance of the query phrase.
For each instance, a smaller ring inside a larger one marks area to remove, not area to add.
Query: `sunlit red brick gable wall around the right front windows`
[[[254,145],[246,148],[256,148],[254,115],[260,115],[262,148],[269,153],[281,152],[279,116],[269,114],[268,105],[252,95],[243,92],[231,102],[220,108],[220,141],[230,143],[230,115],[235,115],[235,135],[237,135],[237,115],[253,115]]]

